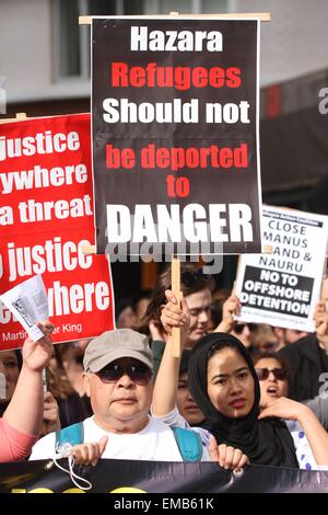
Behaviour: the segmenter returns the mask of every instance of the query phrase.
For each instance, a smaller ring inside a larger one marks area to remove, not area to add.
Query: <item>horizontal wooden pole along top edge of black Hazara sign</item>
[[[271,20],[271,15],[269,12],[244,12],[244,13],[227,13],[227,14],[177,14],[177,13],[172,13],[172,14],[157,14],[157,15],[142,15],[142,16],[112,16],[108,14],[108,16],[79,16],[79,24],[80,25],[91,25],[92,24],[92,19],[104,19],[104,18],[110,18],[110,19],[116,19],[116,18],[126,18],[126,19],[131,19],[131,20],[154,20],[154,19],[164,19],[164,18],[169,18],[169,15],[173,15],[174,18],[202,18],[202,19],[210,19],[210,20],[239,20],[239,19],[257,19],[260,20],[261,22],[269,22]]]

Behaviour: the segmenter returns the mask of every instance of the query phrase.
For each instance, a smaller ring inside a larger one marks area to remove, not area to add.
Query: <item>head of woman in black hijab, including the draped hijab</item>
[[[293,438],[280,419],[258,420],[260,389],[251,357],[233,335],[209,334],[189,359],[189,388],[218,443],[239,448],[250,464],[298,468]]]

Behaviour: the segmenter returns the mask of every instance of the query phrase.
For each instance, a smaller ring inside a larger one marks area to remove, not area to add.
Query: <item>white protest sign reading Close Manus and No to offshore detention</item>
[[[313,332],[326,260],[328,217],[265,206],[263,244],[270,254],[239,258],[238,320]]]

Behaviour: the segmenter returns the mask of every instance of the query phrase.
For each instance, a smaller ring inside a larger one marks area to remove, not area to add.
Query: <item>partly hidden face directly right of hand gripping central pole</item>
[[[210,323],[211,306],[210,288],[201,289],[196,294],[187,295],[186,301],[190,311],[190,328],[187,346],[192,347],[196,342],[206,335]]]

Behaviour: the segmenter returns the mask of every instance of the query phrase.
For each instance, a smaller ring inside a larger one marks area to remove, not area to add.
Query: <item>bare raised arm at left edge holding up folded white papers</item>
[[[23,347],[23,367],[15,391],[3,414],[7,423],[26,435],[38,436],[44,413],[43,368],[52,355],[50,322],[38,323],[45,336],[37,342],[27,337]]]

